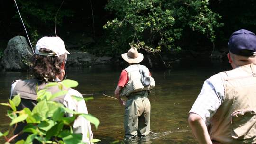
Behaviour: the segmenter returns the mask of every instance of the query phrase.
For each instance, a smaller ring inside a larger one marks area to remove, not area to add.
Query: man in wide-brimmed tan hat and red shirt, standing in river
[[[125,105],[125,138],[132,139],[149,134],[150,102],[147,96],[155,86],[155,81],[148,68],[138,64],[143,60],[143,54],[138,53],[135,47],[122,54],[122,58],[129,66],[121,72],[115,95],[120,104]],[[143,83],[143,78],[149,84]],[[128,100],[121,99],[121,96],[126,96]]]

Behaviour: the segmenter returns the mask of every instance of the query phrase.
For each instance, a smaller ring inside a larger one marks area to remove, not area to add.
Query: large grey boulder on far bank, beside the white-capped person
[[[26,70],[32,50],[23,36],[15,36],[9,40],[4,50],[2,65],[6,70]]]

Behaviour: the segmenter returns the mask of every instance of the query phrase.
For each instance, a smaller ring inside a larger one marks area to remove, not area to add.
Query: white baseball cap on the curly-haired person
[[[46,48],[53,52],[52,53],[40,52],[41,48]],[[60,37],[45,36],[37,41],[35,54],[43,55],[43,56],[59,56],[65,53],[70,54],[66,50],[65,43]]]

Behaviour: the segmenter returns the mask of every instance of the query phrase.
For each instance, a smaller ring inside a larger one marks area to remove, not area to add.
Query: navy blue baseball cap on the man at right
[[[229,51],[236,55],[256,55],[256,36],[251,31],[240,29],[230,36],[228,47]]]

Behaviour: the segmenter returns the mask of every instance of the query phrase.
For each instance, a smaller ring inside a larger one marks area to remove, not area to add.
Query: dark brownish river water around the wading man
[[[125,66],[124,66],[125,67]],[[76,90],[83,94],[105,93],[113,96],[119,74],[124,67],[108,65],[90,68],[68,68],[68,79],[79,82]],[[192,144],[197,143],[187,122],[188,111],[201,90],[203,81],[211,75],[230,69],[227,62],[188,62],[173,69],[152,70],[155,89],[150,94],[151,133],[147,137],[127,144]],[[11,82],[26,79],[27,72],[0,72],[0,102],[9,98]],[[123,139],[124,107],[116,99],[95,95],[87,102],[89,113],[100,120],[94,137],[101,139],[98,144],[120,144]],[[0,106],[0,131],[8,128],[6,107]],[[3,144],[3,140],[0,140]]]

